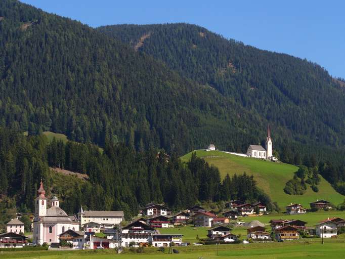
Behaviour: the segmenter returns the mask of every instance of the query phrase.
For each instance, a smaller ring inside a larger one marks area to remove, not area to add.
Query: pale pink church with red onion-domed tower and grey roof
[[[33,219],[33,243],[58,243],[59,235],[68,229],[79,230],[79,223],[73,222],[67,213],[60,208],[59,199],[54,196],[48,206],[46,191],[40,182],[35,199],[35,218]]]

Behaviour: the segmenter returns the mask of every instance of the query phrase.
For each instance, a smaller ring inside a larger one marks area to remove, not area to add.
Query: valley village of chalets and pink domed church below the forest
[[[170,211],[164,204],[147,204],[131,222],[124,222],[123,211],[95,211],[80,209],[76,215],[68,215],[60,208],[59,199],[46,197],[40,182],[35,199],[32,219],[32,238],[24,236],[24,223],[18,218],[7,223],[7,232],[0,234],[0,248],[21,248],[28,245],[66,249],[107,249],[122,247],[171,247],[187,246],[179,230],[186,225],[204,228],[206,239],[198,244],[251,243],[296,240],[301,237],[334,238],[345,227],[345,220],[332,217],[307,227],[298,216],[317,210],[332,210],[326,200],[310,203],[310,210],[301,204],[288,204],[286,215],[295,219],[272,219],[269,224],[258,220],[247,223],[241,219],[267,215],[266,204],[257,201],[246,203],[240,200],[226,202],[224,211],[206,210],[195,205],[182,211]],[[232,228],[246,230],[245,237],[236,235]],[[164,229],[173,229],[165,233]]]

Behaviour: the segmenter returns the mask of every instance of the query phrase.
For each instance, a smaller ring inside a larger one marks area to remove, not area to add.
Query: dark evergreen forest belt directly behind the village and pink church
[[[49,166],[89,179],[61,181]],[[40,179],[47,195],[56,193],[68,213],[77,212],[80,204],[85,209],[124,210],[129,218],[149,202],[165,203],[172,210],[230,198],[270,202],[252,176],[227,176],[221,182],[218,168],[195,154],[185,164],[163,150],[136,151],[123,143],[109,143],[102,151],[92,144],[55,139],[49,143],[44,135],[26,137],[1,127],[0,179],[0,195],[14,197],[17,206],[31,211]]]

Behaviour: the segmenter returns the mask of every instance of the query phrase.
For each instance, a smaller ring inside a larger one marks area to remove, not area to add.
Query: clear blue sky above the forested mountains
[[[345,1],[22,0],[92,27],[187,22],[260,49],[307,58],[345,78]]]

